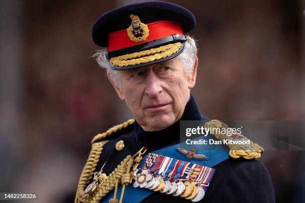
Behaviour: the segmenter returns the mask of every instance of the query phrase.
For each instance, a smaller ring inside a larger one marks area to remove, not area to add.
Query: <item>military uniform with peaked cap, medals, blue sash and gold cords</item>
[[[181,6],[144,2],[105,13],[92,36],[96,44],[108,46],[109,66],[125,70],[177,56],[187,40],[184,33],[194,26],[195,17]],[[182,148],[182,120],[227,127],[206,118],[191,95],[182,117],[165,129],[148,132],[134,119],[114,126],[93,138],[75,202],[275,202],[268,170],[254,160],[262,147],[251,142],[218,150]],[[225,137],[216,133],[208,138]]]

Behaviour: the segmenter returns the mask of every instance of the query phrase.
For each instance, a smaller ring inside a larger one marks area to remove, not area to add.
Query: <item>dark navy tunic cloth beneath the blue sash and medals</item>
[[[180,120],[207,120],[190,96]],[[155,132],[147,132],[135,122],[134,125],[111,134],[104,139],[111,139],[103,148],[97,165],[97,171],[106,162],[103,173],[110,174],[127,155],[134,155],[143,146],[148,152],[179,143],[180,120],[171,126]],[[103,139],[99,139],[101,141]],[[125,142],[125,148],[117,151],[115,145],[119,140]],[[213,159],[213,157],[211,157]],[[202,164],[204,166],[204,163]],[[226,159],[212,167],[216,170],[208,187],[204,203],[274,203],[274,190],[267,168],[258,160]],[[128,187],[133,187],[132,185]],[[143,189],[147,190],[147,189]],[[110,195],[110,194],[109,194]],[[145,198],[143,203],[190,203],[180,197],[173,197],[155,192]],[[133,200],[123,199],[124,203]]]

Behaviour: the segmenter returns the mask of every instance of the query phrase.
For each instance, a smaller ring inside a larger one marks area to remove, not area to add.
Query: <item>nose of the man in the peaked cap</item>
[[[156,98],[161,92],[162,88],[160,86],[161,81],[160,79],[155,75],[154,72],[150,71],[147,73],[146,77],[146,90],[145,94],[152,98]]]

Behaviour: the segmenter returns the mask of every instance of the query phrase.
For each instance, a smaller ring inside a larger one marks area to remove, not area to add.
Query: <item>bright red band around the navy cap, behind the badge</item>
[[[152,40],[168,37],[172,34],[183,35],[180,23],[175,21],[162,20],[147,24],[150,34],[145,41],[134,42],[127,35],[127,29],[109,33],[108,35],[108,51],[115,51],[138,44],[146,43]]]

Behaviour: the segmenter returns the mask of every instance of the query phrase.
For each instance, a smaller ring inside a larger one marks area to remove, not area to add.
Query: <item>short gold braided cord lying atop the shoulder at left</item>
[[[115,125],[111,128],[109,128],[106,132],[99,133],[93,137],[91,140],[91,144],[95,142],[100,142],[106,139],[114,139],[115,137],[127,133],[134,129],[135,119],[129,119],[124,123],[121,123],[119,125]]]

